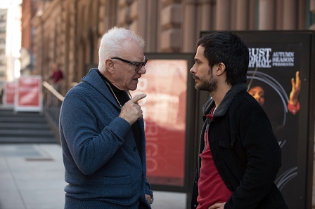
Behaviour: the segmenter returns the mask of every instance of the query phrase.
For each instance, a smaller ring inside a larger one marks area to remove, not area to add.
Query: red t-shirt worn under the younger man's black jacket
[[[217,167],[214,164],[208,141],[208,129],[205,130],[205,149],[199,155],[201,158],[200,177],[198,180],[198,206],[197,209],[207,209],[214,203],[224,203],[232,195],[224,184]]]

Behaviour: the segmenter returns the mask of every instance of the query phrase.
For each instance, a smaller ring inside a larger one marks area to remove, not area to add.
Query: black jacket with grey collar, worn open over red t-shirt
[[[204,114],[209,114],[213,106],[211,99],[203,107]],[[274,184],[281,167],[281,149],[266,113],[248,94],[245,83],[234,85],[215,110],[212,121],[205,120],[199,152],[204,147],[207,123],[210,123],[209,143],[215,165],[233,191],[224,208],[288,208]],[[198,205],[199,170],[200,158],[191,208]]]

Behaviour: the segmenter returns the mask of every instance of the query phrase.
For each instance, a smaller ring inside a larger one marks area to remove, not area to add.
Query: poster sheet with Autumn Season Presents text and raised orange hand
[[[254,96],[260,92],[254,97],[268,115],[281,147],[282,166],[275,183],[284,196],[297,189],[295,180],[299,175],[299,115],[300,109],[305,108],[299,100],[300,50],[298,43],[250,43],[248,93]],[[295,95],[295,105],[290,104],[290,95],[291,100]],[[285,201],[293,205],[298,199],[290,196]]]

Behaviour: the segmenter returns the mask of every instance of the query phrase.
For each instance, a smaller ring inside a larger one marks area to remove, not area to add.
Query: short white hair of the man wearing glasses
[[[122,27],[113,27],[103,35],[100,48],[98,49],[98,70],[100,72],[106,71],[105,60],[108,58],[113,58],[113,56],[119,56],[122,51],[124,41],[130,39],[133,39],[139,43],[141,48],[143,48],[145,45],[145,42],[141,36],[129,29]]]

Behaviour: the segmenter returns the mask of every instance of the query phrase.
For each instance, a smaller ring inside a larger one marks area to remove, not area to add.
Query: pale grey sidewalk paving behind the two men
[[[60,144],[0,144],[0,209],[63,208]],[[186,194],[154,191],[153,209],[184,209]]]

